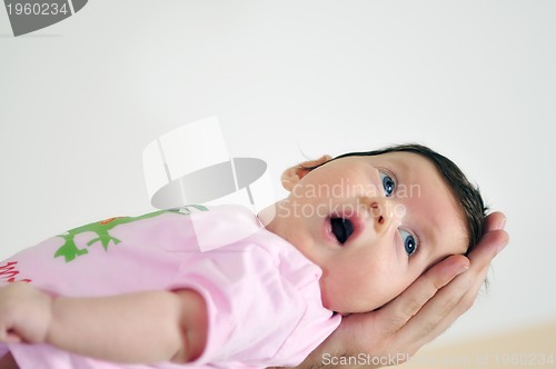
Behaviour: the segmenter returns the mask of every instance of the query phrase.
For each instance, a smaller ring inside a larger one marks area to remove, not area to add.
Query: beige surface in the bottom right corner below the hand
[[[401,368],[556,368],[556,321],[423,349]]]

